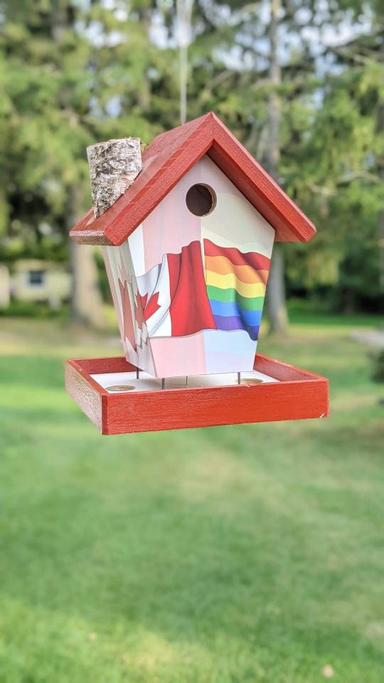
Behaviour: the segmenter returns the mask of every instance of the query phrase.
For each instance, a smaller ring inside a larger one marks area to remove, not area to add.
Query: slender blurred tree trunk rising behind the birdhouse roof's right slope
[[[281,84],[282,74],[277,56],[278,26],[281,0],[270,1],[270,81],[272,90],[268,102],[268,129],[269,144],[267,147],[267,171],[274,180],[277,180],[280,144],[279,127],[281,117],[281,104],[277,88]],[[278,245],[274,245],[270,276],[267,287],[267,312],[270,320],[270,334],[285,334],[288,329],[288,315],[285,301],[284,282],[284,256]]]

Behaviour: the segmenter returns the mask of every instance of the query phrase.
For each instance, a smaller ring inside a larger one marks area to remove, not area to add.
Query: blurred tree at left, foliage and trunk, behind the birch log
[[[1,218],[9,237],[41,249],[61,243],[83,198],[89,205],[85,147],[132,133],[148,141],[162,122],[174,125],[176,79],[166,51],[149,43],[150,22],[138,21],[149,11],[140,2],[132,16],[119,2],[113,9],[72,0],[4,3]],[[100,324],[92,250],[71,244],[71,253],[73,317]]]

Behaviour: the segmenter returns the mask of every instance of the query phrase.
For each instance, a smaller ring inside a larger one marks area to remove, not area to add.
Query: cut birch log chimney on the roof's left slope
[[[87,147],[93,213],[101,216],[132,185],[142,170],[138,137],[97,142]]]

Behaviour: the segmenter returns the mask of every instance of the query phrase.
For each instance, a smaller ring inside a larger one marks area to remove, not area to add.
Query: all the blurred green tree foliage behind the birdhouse
[[[265,2],[196,0],[188,46],[188,119],[215,110],[262,163],[269,21]],[[284,0],[279,18],[279,182],[319,230],[287,248],[287,284],[334,309],[380,301],[382,22],[354,0]],[[2,3],[4,257],[65,258],[73,189],[90,204],[88,144],[178,125],[177,31],[172,0]]]

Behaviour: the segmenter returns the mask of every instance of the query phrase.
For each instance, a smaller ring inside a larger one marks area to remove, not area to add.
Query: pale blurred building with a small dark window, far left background
[[[47,302],[57,309],[70,298],[72,278],[65,267],[38,259],[16,261],[13,272],[0,264],[0,307],[9,306],[10,300]]]

